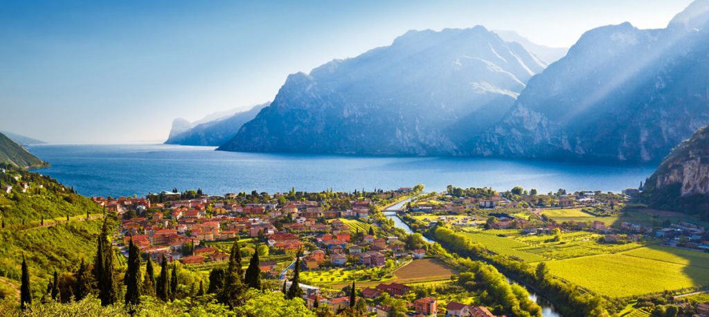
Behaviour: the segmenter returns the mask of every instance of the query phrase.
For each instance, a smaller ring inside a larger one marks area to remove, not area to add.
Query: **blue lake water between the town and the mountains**
[[[201,188],[239,191],[397,189],[421,183],[427,191],[457,187],[522,186],[540,192],[638,187],[654,166],[463,157],[359,157],[215,151],[179,145],[33,145],[52,167],[38,172],[86,196],[144,195]]]

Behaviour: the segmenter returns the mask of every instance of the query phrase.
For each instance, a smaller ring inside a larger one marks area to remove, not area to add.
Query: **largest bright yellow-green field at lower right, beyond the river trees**
[[[643,254],[647,248],[632,250]],[[650,256],[654,252],[647,251]],[[557,277],[598,294],[627,297],[709,284],[709,269],[701,266],[651,260],[625,253],[549,261]]]

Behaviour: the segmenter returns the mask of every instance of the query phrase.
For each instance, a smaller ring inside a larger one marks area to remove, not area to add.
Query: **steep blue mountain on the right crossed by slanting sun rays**
[[[588,31],[469,155],[659,161],[709,123],[709,0],[660,30]]]

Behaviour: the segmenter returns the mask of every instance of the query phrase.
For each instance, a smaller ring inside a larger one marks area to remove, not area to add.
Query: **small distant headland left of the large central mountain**
[[[268,106],[259,104],[247,111],[233,113],[230,116],[217,118],[210,121],[210,118],[217,116],[207,116],[203,123],[192,126],[184,119],[177,119],[172,123],[169,138],[165,144],[179,145],[209,145],[219,146],[233,138],[241,126],[256,117],[257,113]],[[199,121],[198,121],[199,122]]]

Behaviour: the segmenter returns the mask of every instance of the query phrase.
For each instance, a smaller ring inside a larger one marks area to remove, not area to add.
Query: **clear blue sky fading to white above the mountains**
[[[549,46],[690,0],[2,1],[0,130],[59,143],[162,141],[177,117],[273,99],[288,74],[411,29],[516,30]]]

